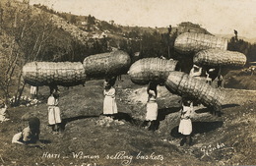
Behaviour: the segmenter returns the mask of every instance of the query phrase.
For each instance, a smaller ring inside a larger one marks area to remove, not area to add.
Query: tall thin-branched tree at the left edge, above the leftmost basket
[[[19,103],[25,85],[22,83],[22,68],[27,62],[38,60],[54,28],[48,15],[43,12],[33,15],[27,4],[8,0],[6,4],[1,3],[1,7],[1,32],[4,33],[1,41],[8,44],[0,51],[6,60],[1,62],[5,72],[0,76],[0,87],[6,101],[14,94],[16,103]],[[10,88],[14,85],[16,90]]]

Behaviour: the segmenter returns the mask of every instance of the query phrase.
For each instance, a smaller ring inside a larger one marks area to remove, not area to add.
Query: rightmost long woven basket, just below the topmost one
[[[243,67],[246,63],[246,56],[235,51],[207,49],[199,51],[194,56],[193,62],[199,66]]]

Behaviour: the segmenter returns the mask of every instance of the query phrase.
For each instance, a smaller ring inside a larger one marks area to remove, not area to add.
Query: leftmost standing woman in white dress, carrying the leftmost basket
[[[60,132],[61,116],[59,104],[59,93],[54,90],[47,100],[48,105],[48,121],[52,128],[52,132]]]

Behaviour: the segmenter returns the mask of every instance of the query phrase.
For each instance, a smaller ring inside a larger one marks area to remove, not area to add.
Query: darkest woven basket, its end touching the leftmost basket
[[[84,60],[86,75],[91,78],[118,76],[126,74],[130,65],[130,56],[123,51],[113,51],[91,55]]]

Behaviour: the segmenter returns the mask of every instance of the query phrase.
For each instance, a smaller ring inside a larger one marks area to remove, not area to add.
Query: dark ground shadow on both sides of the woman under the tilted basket
[[[209,133],[211,131],[215,131],[218,128],[221,128],[224,125],[223,121],[215,121],[215,122],[192,122],[192,135],[195,134],[204,134]],[[173,138],[181,138],[182,135],[178,133],[178,126],[174,127],[170,136]]]

